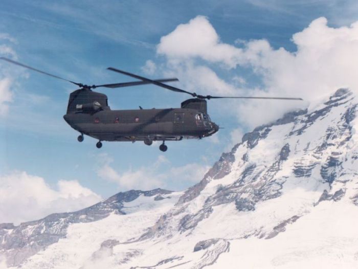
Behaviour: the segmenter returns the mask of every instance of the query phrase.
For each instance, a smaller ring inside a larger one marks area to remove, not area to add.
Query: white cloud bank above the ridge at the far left
[[[18,224],[51,213],[76,211],[100,200],[98,194],[77,181],[61,180],[56,190],[42,177],[26,172],[0,176],[0,223]]]

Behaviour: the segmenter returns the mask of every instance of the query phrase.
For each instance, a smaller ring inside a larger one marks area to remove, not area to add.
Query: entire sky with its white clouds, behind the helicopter
[[[209,100],[223,127],[200,141],[103,142],[63,120],[71,83],[0,62],[0,223],[92,205],[119,191],[184,190],[245,132],[358,88],[358,3],[338,0],[8,1],[0,56],[85,84],[177,77],[197,94],[301,97]],[[179,107],[154,85],[100,88],[111,109]],[[31,207],[31,211],[28,208]],[[15,209],[15,210],[14,210]]]

